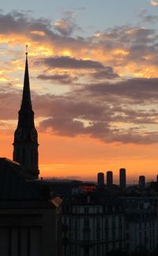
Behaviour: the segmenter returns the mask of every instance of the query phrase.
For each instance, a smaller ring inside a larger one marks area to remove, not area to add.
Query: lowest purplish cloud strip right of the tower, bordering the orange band
[[[84,122],[73,119],[60,119],[58,117],[44,120],[40,128],[52,128],[52,133],[58,136],[76,137],[77,135],[88,135],[100,139],[103,142],[121,142],[124,144],[152,144],[158,142],[158,133],[142,133],[138,127],[128,130],[115,129],[109,126],[108,122],[92,122],[90,126],[84,126]]]

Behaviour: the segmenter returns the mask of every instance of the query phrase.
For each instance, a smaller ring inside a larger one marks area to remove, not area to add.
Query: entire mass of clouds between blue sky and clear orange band
[[[32,91],[40,130],[62,137],[92,137],[103,143],[157,143],[156,30],[126,25],[78,37],[73,36],[79,29],[75,22],[72,13],[54,25],[26,13],[0,14],[0,43],[10,48],[27,41],[32,46],[31,79],[37,88],[47,86],[47,92],[43,88]],[[21,100],[12,77],[15,70],[23,69],[18,59],[21,52],[10,54],[12,59],[0,62],[2,121],[17,119]],[[10,75],[6,83],[5,73]],[[55,94],[54,85],[70,88]]]

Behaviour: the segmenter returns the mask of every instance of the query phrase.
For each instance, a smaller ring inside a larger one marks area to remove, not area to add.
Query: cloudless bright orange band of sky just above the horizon
[[[88,137],[55,137],[39,133],[40,177],[96,181],[97,172],[113,171],[119,183],[119,168],[126,167],[128,183],[137,183],[138,175],[155,180],[158,145],[104,144]],[[12,159],[13,134],[1,136],[0,155]]]

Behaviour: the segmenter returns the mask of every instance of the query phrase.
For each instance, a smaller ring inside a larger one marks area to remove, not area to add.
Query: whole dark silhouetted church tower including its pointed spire
[[[32,176],[32,179],[38,179],[40,173],[38,166],[39,144],[34,123],[34,111],[32,111],[28,74],[28,52],[26,52],[21,109],[18,115],[17,130],[15,130],[13,141],[13,160],[20,163],[25,171]]]

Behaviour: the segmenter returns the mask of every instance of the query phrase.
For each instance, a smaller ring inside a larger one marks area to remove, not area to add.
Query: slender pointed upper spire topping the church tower
[[[30,85],[29,85],[29,73],[28,73],[28,51],[26,46],[26,61],[25,61],[25,70],[24,70],[24,87],[23,87],[23,95],[21,101],[21,109],[32,109],[32,101],[31,101],[31,93],[30,93]]]

